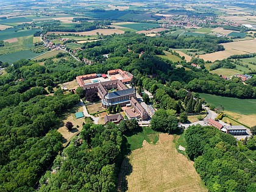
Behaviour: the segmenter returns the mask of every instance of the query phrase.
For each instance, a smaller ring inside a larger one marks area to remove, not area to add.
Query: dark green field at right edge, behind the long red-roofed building
[[[201,98],[215,106],[222,105],[225,110],[243,115],[256,114],[256,99],[237,99],[216,96],[214,94],[199,93]]]

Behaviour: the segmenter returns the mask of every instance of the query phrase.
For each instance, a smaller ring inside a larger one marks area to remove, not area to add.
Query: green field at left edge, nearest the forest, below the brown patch
[[[38,55],[41,55],[41,53],[35,53],[29,50],[24,50],[24,51],[13,52],[11,54],[0,55],[0,61],[13,63],[21,59],[32,59],[34,57],[37,57]]]

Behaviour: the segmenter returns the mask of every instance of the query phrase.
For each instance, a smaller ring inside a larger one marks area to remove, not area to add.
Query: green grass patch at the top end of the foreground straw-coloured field
[[[130,150],[142,148],[143,141],[146,140],[148,143],[155,144],[159,139],[159,133],[152,130],[150,127],[142,127],[143,131],[139,132],[130,137],[126,137],[130,144]]]

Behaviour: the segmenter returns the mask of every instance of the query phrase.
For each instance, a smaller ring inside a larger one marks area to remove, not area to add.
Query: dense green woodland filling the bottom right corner
[[[255,191],[255,138],[237,145],[232,135],[198,125],[188,127],[185,140],[187,155],[209,191]]]

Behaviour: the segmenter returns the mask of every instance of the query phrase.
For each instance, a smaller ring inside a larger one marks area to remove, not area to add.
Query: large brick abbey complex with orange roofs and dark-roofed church
[[[100,77],[100,78],[99,78]],[[129,84],[132,81],[133,75],[122,69],[114,69],[108,71],[106,74],[87,74],[84,76],[77,76],[77,84],[84,90],[96,91],[101,98],[102,107],[108,108],[112,105],[120,105],[126,107],[124,112],[128,119],[142,119],[149,118],[146,109],[137,101],[134,88],[129,88],[124,84]],[[119,123],[121,116],[104,117],[105,121]]]

